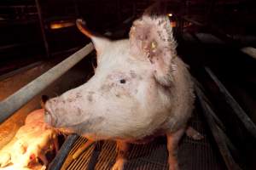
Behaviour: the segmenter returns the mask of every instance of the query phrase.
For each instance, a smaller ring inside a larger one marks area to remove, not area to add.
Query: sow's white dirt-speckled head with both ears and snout
[[[97,138],[147,135],[166,121],[172,108],[177,72],[176,42],[166,15],[143,14],[130,38],[111,41],[77,25],[92,40],[97,54],[95,75],[78,88],[49,99],[45,121]],[[72,78],[72,77],[71,77]]]

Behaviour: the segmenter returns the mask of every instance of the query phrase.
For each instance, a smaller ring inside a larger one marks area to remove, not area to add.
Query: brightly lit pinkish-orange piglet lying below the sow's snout
[[[10,168],[25,169],[32,162],[37,162],[38,158],[43,161],[44,167],[48,166],[45,153],[49,150],[57,152],[58,133],[45,124],[44,105],[42,107],[43,109],[32,111],[26,116],[25,125],[20,127],[14,139],[0,150],[0,167],[12,163],[13,167]]]

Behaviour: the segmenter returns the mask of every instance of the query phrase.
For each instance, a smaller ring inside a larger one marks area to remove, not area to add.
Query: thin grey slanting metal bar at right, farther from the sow
[[[205,67],[208,75],[212,78],[212,80],[216,83],[218,86],[220,92],[224,94],[224,98],[227,101],[227,103],[230,105],[230,107],[233,109],[233,111],[236,113],[236,116],[239,117],[243,125],[247,128],[247,131],[253,135],[254,138],[256,138],[256,126],[253,123],[253,121],[250,119],[249,116],[247,116],[247,113],[242,110],[241,106],[236,102],[236,99],[233,98],[233,96],[230,94],[230,92],[224,87],[222,82],[218,80],[218,78],[214,75],[214,73],[211,71],[210,68]]]

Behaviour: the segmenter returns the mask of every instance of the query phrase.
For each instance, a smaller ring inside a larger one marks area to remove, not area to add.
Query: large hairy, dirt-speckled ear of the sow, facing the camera
[[[146,11],[134,21],[130,31],[131,54],[151,62],[156,81],[163,86],[172,85],[172,60],[177,56],[177,44],[172,37],[172,26],[166,14]]]

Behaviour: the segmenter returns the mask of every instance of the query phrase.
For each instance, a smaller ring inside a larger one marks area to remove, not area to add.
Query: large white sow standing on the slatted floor
[[[117,141],[113,170],[122,170],[129,144],[166,135],[170,170],[177,170],[177,144],[194,108],[188,66],[177,56],[177,42],[166,14],[149,8],[133,22],[129,39],[112,41],[79,30],[96,48],[95,75],[78,88],[49,99],[44,120],[50,126],[96,141]]]

